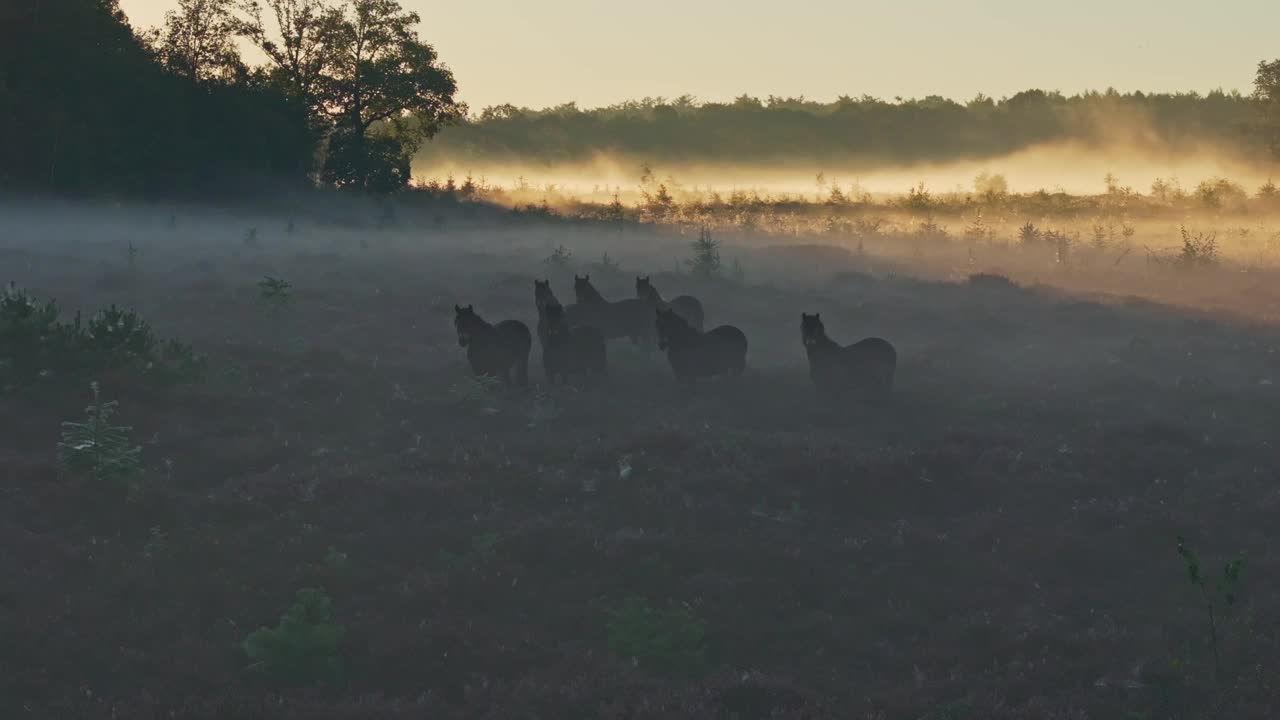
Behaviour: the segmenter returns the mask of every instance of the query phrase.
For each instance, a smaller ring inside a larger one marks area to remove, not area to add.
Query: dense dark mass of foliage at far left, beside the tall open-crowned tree
[[[305,182],[305,108],[264,78],[166,68],[115,0],[10,0],[4,13],[0,187],[160,196]]]

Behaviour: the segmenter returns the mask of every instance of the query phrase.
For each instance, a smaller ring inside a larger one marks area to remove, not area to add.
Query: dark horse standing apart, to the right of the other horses
[[[849,346],[827,337],[822,314],[800,314],[800,342],[809,356],[809,378],[823,395],[846,392],[884,401],[893,392],[897,351],[883,338],[869,337]]]

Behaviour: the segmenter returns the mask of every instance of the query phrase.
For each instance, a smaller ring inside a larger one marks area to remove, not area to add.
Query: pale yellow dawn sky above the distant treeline
[[[749,94],[1248,92],[1280,0],[402,0],[474,111]],[[134,26],[177,0],[120,0]]]

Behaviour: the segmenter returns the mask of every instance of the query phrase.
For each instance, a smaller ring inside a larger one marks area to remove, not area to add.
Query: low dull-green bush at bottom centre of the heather
[[[646,670],[691,675],[705,670],[705,629],[692,610],[657,610],[643,597],[628,597],[608,612],[609,650]]]

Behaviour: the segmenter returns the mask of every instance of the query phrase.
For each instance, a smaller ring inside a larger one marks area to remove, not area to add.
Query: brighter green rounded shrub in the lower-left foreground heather
[[[259,628],[244,638],[252,661],[246,671],[280,687],[337,683],[342,679],[342,639],[346,629],[333,623],[333,602],[323,589],[297,592],[297,602],[274,628]]]

